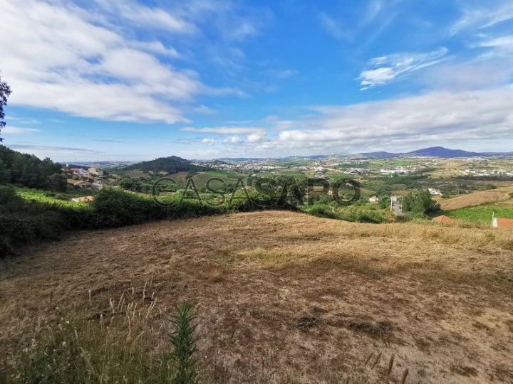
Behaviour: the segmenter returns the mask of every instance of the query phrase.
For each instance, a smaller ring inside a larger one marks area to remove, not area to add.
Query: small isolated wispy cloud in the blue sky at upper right
[[[361,90],[375,85],[384,85],[399,76],[442,62],[446,59],[447,52],[447,48],[442,47],[428,53],[395,53],[373,58],[369,61],[373,69],[363,70],[357,80],[360,80],[360,85],[363,85]]]

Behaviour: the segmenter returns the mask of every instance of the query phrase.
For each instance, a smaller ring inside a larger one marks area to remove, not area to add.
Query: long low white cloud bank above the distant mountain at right
[[[467,149],[483,142],[499,144],[499,150],[506,150],[513,143],[510,100],[513,87],[495,87],[311,107],[316,114],[310,120],[291,120],[289,127],[276,135],[248,134],[247,141],[238,145],[245,153],[271,156],[362,151],[370,146],[390,151],[430,145]],[[215,128],[209,132],[227,133]],[[494,149],[497,146],[488,150]]]

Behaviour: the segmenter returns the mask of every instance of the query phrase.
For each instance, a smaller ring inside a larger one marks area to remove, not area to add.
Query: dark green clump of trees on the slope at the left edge
[[[48,157],[41,160],[0,145],[0,183],[63,191],[66,189],[66,178],[61,168],[61,164],[54,163]]]

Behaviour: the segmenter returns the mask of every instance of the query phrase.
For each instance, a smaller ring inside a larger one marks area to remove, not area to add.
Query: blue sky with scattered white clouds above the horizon
[[[4,144],[57,161],[513,150],[513,2],[0,0]]]

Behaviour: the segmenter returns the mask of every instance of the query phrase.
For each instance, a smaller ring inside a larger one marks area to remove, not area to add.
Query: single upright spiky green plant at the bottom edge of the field
[[[184,303],[177,307],[177,314],[172,316],[171,322],[175,330],[169,334],[169,341],[174,347],[170,354],[176,363],[176,373],[172,378],[174,384],[193,384],[199,382],[197,368],[197,339],[195,330],[197,324],[192,324],[195,317],[191,314],[192,305]]]

